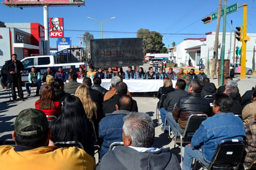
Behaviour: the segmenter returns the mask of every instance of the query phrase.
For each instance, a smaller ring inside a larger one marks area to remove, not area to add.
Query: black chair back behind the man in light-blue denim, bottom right
[[[209,169],[231,168],[237,166],[243,156],[245,144],[243,140],[223,140],[217,146]]]

